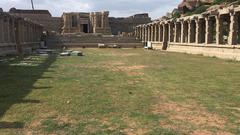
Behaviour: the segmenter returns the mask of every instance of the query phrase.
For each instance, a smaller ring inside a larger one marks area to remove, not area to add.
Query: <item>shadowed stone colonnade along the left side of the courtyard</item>
[[[25,44],[39,43],[43,27],[30,20],[0,13],[0,49],[15,46],[19,50]]]

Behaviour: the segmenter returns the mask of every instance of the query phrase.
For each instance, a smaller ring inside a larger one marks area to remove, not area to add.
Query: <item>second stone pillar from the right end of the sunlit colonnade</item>
[[[220,45],[223,43],[223,21],[221,16],[215,16],[216,18],[216,44]]]

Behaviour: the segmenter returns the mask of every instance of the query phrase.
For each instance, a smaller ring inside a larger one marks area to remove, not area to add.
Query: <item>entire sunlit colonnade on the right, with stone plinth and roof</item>
[[[135,36],[156,49],[240,60],[240,6],[139,25]]]

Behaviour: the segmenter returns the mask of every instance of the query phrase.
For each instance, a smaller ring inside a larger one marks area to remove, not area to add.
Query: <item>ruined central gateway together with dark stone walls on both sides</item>
[[[28,18],[41,24],[49,33],[102,33],[118,35],[133,32],[140,24],[151,22],[147,13],[130,17],[109,17],[108,11],[103,12],[70,12],[61,17],[53,17],[48,10],[27,10],[11,8],[8,12],[13,16]]]

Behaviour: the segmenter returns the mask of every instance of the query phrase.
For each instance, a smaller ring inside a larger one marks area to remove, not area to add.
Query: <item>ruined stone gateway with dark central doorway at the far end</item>
[[[101,33],[110,35],[108,11],[63,13],[62,33]]]

